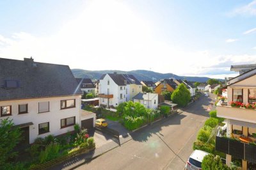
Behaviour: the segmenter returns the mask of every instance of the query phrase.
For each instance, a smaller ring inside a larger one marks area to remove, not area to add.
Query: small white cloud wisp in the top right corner
[[[253,0],[251,3],[236,8],[232,15],[256,15],[256,0]]]

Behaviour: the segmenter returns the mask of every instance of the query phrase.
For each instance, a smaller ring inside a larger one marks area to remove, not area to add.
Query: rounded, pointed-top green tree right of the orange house
[[[173,91],[171,98],[175,104],[181,107],[188,105],[191,99],[190,92],[183,83],[179,84],[178,88]]]

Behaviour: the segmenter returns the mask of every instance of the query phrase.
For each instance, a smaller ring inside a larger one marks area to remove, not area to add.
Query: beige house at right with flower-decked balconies
[[[255,69],[231,79],[224,88],[228,105],[218,103],[217,116],[227,120],[227,137],[216,136],[216,150],[226,153],[228,166],[234,157],[241,160],[242,169],[255,167],[256,146],[252,143],[256,142],[256,110],[240,107],[242,103],[251,107],[256,102]],[[237,102],[237,107],[232,107],[232,102]]]

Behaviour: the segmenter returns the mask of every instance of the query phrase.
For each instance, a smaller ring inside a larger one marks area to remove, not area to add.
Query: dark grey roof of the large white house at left
[[[17,82],[6,88],[6,82]],[[77,81],[67,65],[34,62],[33,59],[0,58],[0,100],[80,95]]]

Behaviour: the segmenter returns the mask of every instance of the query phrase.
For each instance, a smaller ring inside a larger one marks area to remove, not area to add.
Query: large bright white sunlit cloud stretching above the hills
[[[88,1],[84,11],[51,36],[0,35],[0,58],[69,65],[85,70],[144,69],[177,75],[214,76],[229,63],[253,63],[256,56],[213,56],[187,51],[154,37],[154,23],[121,1]],[[232,39],[236,40],[236,39]],[[220,66],[218,69],[216,65]]]

